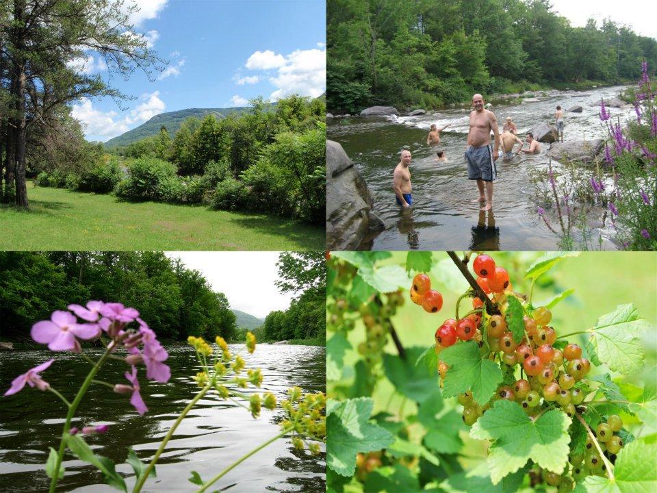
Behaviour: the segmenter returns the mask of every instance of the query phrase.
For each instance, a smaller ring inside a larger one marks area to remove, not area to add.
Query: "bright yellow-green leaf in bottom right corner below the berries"
[[[657,444],[634,440],[623,446],[614,464],[614,481],[608,477],[584,479],[588,493],[647,493],[657,491]]]

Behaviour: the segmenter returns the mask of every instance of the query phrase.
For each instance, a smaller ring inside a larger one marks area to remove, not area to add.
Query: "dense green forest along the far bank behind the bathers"
[[[646,12],[647,14],[647,12]],[[549,0],[327,0],[327,107],[437,107],[502,94],[654,75],[657,41]]]

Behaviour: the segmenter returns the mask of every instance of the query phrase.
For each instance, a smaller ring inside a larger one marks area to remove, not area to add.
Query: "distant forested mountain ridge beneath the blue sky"
[[[216,118],[225,118],[231,112],[241,113],[250,108],[189,108],[188,110],[180,110],[177,112],[161,113],[153,116],[146,123],[142,123],[139,127],[128,130],[125,134],[118,137],[111,138],[105,142],[105,147],[119,147],[142,140],[142,138],[150,137],[159,134],[159,129],[164,125],[169,131],[169,135],[173,138],[176,132],[180,129],[183,121],[190,116],[194,116],[199,120],[203,120],[205,116],[214,114]]]

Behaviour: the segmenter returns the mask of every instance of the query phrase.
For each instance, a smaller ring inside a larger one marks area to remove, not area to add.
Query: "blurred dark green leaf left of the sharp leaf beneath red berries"
[[[423,403],[439,389],[437,372],[432,375],[425,366],[415,365],[422,352],[421,347],[414,346],[406,349],[406,359],[387,353],[383,355],[385,376],[397,392],[418,403]]]

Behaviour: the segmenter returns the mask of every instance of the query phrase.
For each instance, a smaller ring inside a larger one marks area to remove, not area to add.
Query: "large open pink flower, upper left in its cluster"
[[[52,321],[51,321],[52,320]],[[96,324],[79,324],[69,312],[55,310],[50,320],[41,320],[32,325],[31,336],[40,344],[48,344],[51,351],[81,351],[80,339],[98,336],[100,329]]]

